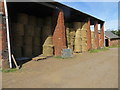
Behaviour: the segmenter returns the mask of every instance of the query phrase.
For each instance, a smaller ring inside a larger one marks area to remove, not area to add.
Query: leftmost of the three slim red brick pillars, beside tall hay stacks
[[[90,18],[88,18],[88,26],[87,26],[87,49],[90,50],[91,48],[92,48],[92,43],[91,43]]]

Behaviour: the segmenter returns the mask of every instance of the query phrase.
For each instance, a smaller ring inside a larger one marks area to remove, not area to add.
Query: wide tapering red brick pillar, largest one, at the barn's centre
[[[58,13],[57,24],[53,34],[53,44],[55,49],[55,56],[61,56],[61,50],[66,48],[66,36],[64,26],[64,13]]]

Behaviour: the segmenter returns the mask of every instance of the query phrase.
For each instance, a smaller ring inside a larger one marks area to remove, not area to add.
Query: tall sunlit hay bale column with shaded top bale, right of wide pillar
[[[81,22],[74,22],[74,30],[76,31],[74,52],[76,53],[82,52],[81,26]]]

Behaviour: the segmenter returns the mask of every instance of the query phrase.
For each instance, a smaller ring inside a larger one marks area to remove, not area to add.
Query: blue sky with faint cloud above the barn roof
[[[61,2],[105,21],[105,30],[118,30],[118,2]]]

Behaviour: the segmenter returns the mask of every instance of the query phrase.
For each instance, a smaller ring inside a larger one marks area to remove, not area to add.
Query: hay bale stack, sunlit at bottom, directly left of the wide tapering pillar
[[[42,28],[43,55],[53,56],[52,18],[45,18]]]

